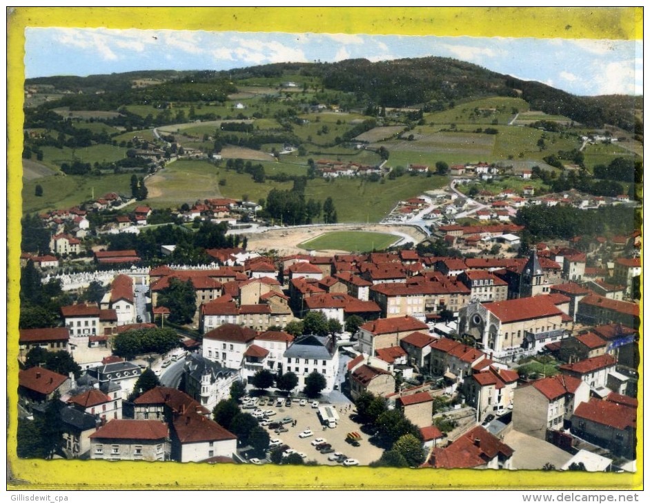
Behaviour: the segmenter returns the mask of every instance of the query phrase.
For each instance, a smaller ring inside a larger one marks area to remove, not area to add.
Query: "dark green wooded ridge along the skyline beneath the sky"
[[[564,115],[593,128],[611,124],[642,135],[642,121],[633,113],[634,109],[641,108],[642,97],[580,97],[539,82],[523,81],[478,65],[442,57],[376,63],[367,59],[348,59],[337,63],[282,63],[221,72],[154,70],[89,77],[41,77],[28,79],[26,84],[48,84],[59,90],[72,91],[106,90],[102,95],[69,95],[52,104],[77,109],[83,106],[110,110],[117,108],[115,105],[118,101],[121,104],[173,100],[222,101],[227,93],[233,93],[235,86],[244,84],[246,79],[277,79],[275,85],[280,86],[287,75],[305,77],[305,81],[317,80],[322,88],[351,93],[355,97],[355,106],[364,110],[373,106],[444,110],[458,101],[495,95],[520,96],[531,104],[531,108],[547,114]],[[132,81],[137,79],[161,79],[166,82],[142,89],[130,88]],[[215,84],[219,85],[216,91]],[[208,88],[204,89],[205,86],[211,88],[209,95],[206,95]]]

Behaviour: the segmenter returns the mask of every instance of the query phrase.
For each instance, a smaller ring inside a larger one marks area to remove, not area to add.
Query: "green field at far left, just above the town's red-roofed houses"
[[[130,194],[130,173],[88,177],[79,175],[57,175],[46,180],[23,181],[23,213],[53,209],[68,209],[85,201],[101,197],[106,193]],[[41,183],[43,195],[35,196],[36,184]]]

